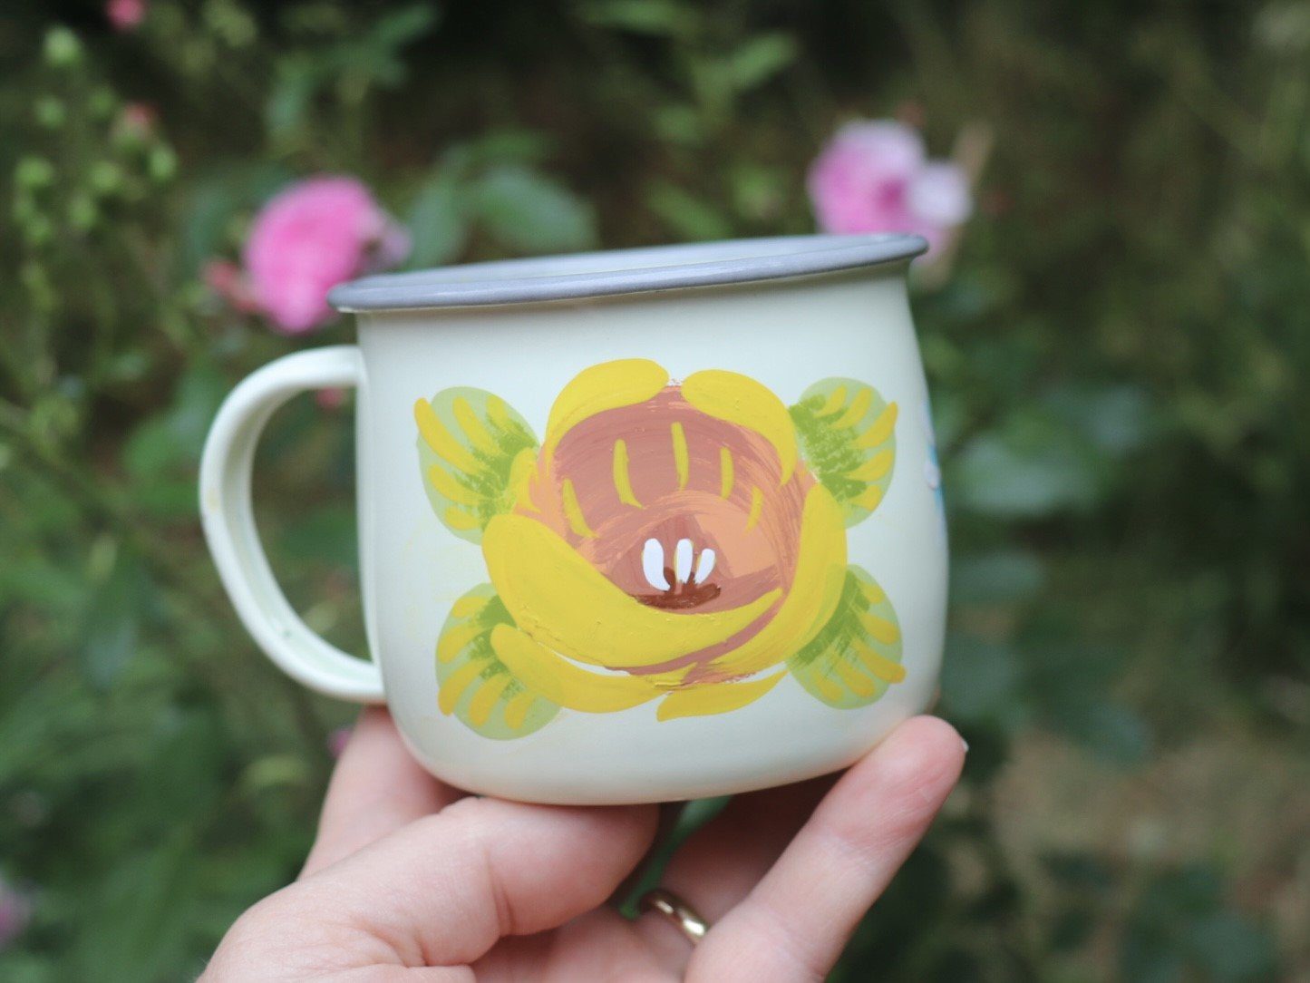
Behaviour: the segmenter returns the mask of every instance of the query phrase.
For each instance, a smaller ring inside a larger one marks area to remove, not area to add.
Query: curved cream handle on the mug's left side
[[[341,700],[383,703],[383,674],[328,644],[287,602],[259,544],[250,503],[254,448],[282,404],[307,389],[359,385],[354,345],[300,351],[252,372],[219,409],[200,456],[200,519],[219,578],[242,624],[282,671]]]

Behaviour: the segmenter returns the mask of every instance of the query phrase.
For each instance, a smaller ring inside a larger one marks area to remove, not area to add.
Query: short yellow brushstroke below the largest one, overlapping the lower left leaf
[[[552,703],[586,713],[626,710],[660,695],[638,676],[579,668],[510,625],[491,629],[491,649],[524,687]]]

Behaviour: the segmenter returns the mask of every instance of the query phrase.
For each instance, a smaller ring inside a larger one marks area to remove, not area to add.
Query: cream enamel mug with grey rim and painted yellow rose
[[[359,345],[254,372],[200,465],[241,620],[386,703],[434,775],[558,803],[842,768],[937,687],[946,524],[913,236],[798,236],[371,277]],[[372,661],[318,638],[252,518],[259,431],[358,389]]]

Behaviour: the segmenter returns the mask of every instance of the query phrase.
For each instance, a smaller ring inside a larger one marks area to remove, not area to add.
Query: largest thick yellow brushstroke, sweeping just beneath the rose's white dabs
[[[561,536],[524,515],[496,515],[482,556],[515,623],[562,655],[633,668],[717,645],[752,624],[782,591],[727,611],[689,615],[642,604],[616,587]],[[840,562],[846,564],[845,540]],[[836,562],[836,560],[834,560]]]

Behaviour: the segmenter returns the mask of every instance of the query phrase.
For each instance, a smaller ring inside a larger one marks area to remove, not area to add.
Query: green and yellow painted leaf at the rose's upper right
[[[791,408],[806,463],[841,505],[848,527],[866,519],[892,482],[896,414],[895,402],[855,379],[823,379]]]

